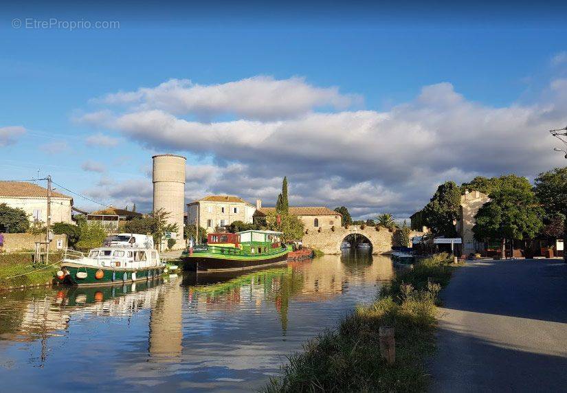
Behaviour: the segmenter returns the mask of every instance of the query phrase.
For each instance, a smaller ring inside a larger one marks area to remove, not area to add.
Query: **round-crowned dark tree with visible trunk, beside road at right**
[[[542,228],[544,211],[537,205],[531,190],[502,188],[490,194],[490,201],[476,213],[472,230],[476,240],[498,239],[502,258],[506,256],[506,240],[535,238]]]

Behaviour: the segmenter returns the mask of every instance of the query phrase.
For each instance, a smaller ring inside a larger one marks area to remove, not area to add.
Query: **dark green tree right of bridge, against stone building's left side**
[[[453,221],[458,218],[459,208],[460,188],[454,181],[445,181],[423,207],[425,223],[434,234],[454,238],[457,233]]]

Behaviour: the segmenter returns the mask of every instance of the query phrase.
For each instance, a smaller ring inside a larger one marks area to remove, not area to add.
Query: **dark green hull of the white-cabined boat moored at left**
[[[89,286],[89,285],[109,285],[124,284],[128,282],[136,282],[141,280],[154,280],[164,273],[165,266],[145,267],[142,269],[120,269],[112,267],[97,267],[80,265],[73,262],[63,262],[61,264],[63,271],[68,271],[63,280],[66,284]],[[96,278],[96,272],[101,270],[102,278]],[[87,277],[79,278],[77,273],[85,272]]]

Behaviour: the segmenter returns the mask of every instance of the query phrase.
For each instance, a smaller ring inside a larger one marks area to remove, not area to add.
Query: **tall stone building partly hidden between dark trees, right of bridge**
[[[478,209],[490,201],[487,194],[480,191],[465,190],[465,194],[460,197],[460,212],[457,221],[457,232],[463,240],[463,255],[477,253],[485,250],[485,243],[474,239],[472,227],[474,226],[474,216]]]

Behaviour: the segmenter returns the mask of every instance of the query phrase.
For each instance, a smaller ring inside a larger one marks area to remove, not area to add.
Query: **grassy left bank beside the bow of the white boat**
[[[33,264],[33,253],[0,254],[0,290],[10,287],[33,287],[52,282],[59,266],[44,267]],[[50,254],[50,262],[61,260],[61,253]],[[16,277],[14,277],[16,276]]]

